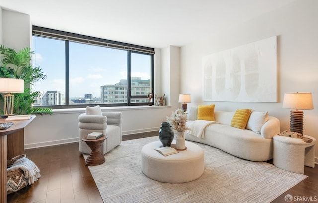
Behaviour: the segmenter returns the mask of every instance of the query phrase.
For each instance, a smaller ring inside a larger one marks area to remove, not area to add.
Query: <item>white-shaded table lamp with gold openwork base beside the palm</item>
[[[9,115],[14,115],[14,95],[11,93],[23,93],[24,80],[17,78],[0,78],[0,93],[7,93],[4,95],[4,115],[6,118]]]

